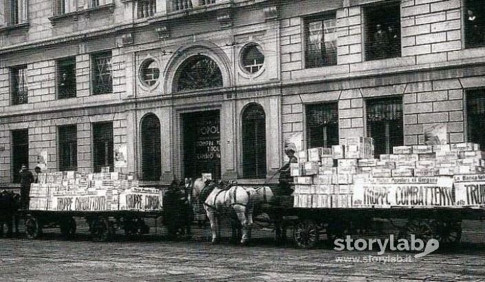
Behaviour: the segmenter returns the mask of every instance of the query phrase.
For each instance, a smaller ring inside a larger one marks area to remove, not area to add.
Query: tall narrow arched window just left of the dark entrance
[[[160,121],[153,113],[142,118],[142,180],[157,181],[162,175]]]

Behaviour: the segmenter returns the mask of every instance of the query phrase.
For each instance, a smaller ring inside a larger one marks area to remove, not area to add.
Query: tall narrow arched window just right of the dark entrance
[[[266,115],[259,104],[251,104],[242,114],[243,177],[266,177]]]

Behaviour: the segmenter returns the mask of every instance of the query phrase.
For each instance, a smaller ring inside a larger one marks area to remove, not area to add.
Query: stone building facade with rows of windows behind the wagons
[[[485,146],[479,0],[0,1],[2,183],[23,163],[262,183],[295,133]]]

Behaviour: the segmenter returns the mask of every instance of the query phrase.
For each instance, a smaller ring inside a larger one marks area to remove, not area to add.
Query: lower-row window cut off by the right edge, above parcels
[[[468,142],[485,148],[485,89],[466,91],[466,123]]]

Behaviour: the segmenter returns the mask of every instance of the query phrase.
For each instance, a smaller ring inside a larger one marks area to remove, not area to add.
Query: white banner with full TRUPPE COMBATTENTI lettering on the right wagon
[[[354,185],[353,206],[356,208],[455,206],[451,177],[398,177],[395,180],[399,182],[404,179],[416,180],[416,182],[387,184],[357,182]],[[433,183],[434,180],[435,183]]]

